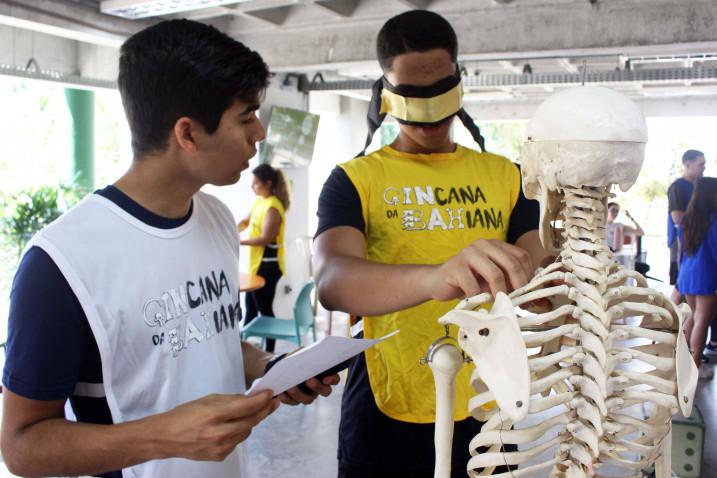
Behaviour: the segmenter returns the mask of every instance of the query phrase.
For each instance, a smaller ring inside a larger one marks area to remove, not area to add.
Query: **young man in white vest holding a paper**
[[[244,394],[271,355],[240,340],[235,221],[200,188],[248,167],[268,80],[257,53],[201,23],[162,22],[122,46],[132,164],[33,239],[13,284],[13,473],[245,476],[237,445],[252,428],[279,401],[310,403],[337,383]]]

